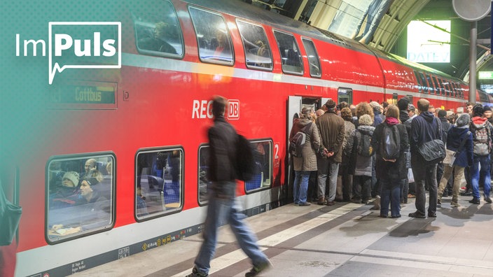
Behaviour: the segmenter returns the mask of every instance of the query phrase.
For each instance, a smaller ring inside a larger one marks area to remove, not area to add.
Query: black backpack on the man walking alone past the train
[[[243,181],[251,180],[258,173],[253,146],[240,134],[237,136],[235,169],[237,179]]]

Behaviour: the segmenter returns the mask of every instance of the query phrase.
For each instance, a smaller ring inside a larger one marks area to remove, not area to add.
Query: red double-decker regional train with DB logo
[[[461,80],[242,1],[60,5],[95,10],[60,22],[120,22],[99,35],[120,40],[121,67],[56,71],[52,85],[3,94],[1,184],[23,207],[18,276],[65,276],[200,233],[214,94],[256,149],[258,174],[237,188],[247,215],[289,201],[286,141],[303,106],[468,100]],[[12,74],[27,79],[46,66],[17,58]]]

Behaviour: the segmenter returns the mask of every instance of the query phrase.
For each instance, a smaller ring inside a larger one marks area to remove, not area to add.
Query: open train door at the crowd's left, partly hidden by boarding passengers
[[[294,170],[293,170],[293,159],[289,155],[289,134],[291,134],[291,129],[293,129],[293,121],[296,118],[300,118],[300,112],[304,107],[310,107],[313,111],[321,108],[323,104],[326,103],[328,98],[313,98],[313,97],[299,97],[291,96],[288,100],[288,111],[287,115],[287,134],[286,134],[286,178],[287,184],[284,189],[284,197],[288,202],[293,200],[293,183],[294,183]]]

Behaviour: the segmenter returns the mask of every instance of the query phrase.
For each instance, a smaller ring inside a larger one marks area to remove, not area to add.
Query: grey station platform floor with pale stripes
[[[260,276],[493,276],[493,206],[452,208],[443,198],[436,218],[380,218],[373,205],[287,204],[246,221],[273,267]],[[244,276],[249,259],[228,225],[220,228],[209,276]],[[74,276],[186,276],[200,234],[110,262]]]

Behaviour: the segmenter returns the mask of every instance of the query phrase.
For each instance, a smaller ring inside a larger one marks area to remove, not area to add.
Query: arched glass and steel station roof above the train
[[[407,27],[412,20],[450,20],[450,41],[432,42],[450,44],[450,62],[424,65],[468,81],[471,22],[461,19],[455,13],[451,0],[242,1],[401,57],[406,57]],[[493,70],[489,50],[491,22],[490,14],[477,22],[477,71]]]

